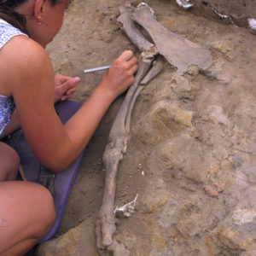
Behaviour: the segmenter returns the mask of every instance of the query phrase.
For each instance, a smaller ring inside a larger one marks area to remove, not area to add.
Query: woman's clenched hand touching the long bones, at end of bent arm
[[[108,73],[102,78],[99,86],[108,90],[113,99],[123,93],[134,81],[134,73],[137,71],[137,59],[133,57],[131,50],[125,50],[113,61]]]

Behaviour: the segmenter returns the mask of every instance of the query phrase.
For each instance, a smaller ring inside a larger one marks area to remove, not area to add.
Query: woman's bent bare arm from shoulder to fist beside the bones
[[[48,55],[29,38],[11,41],[4,49],[8,58],[2,54],[21,128],[38,160],[59,171],[80,154],[114,98],[133,82],[137,61],[131,51],[120,55],[88,101],[64,126],[55,113],[55,81]]]

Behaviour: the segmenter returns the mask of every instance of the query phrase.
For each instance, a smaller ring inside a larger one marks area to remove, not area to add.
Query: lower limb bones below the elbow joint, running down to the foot
[[[96,223],[97,247],[100,250],[107,249],[109,252],[119,252],[120,255],[129,255],[125,247],[113,239],[116,231],[116,219],[114,218],[114,196],[116,190],[116,175],[118,172],[119,161],[122,160],[123,154],[126,152],[129,140],[129,125],[126,125],[126,120],[130,122],[131,108],[133,108],[135,98],[137,96],[137,88],[139,82],[143,79],[148,69],[150,68],[150,61],[148,58],[142,56],[139,63],[137,76],[134,84],[128,90],[125,100],[119,108],[119,112],[113,121],[112,128],[108,137],[108,144],[103,153],[103,164],[106,169],[105,189],[102,200],[102,208],[99,213],[99,219]],[[102,253],[102,252],[101,252]]]

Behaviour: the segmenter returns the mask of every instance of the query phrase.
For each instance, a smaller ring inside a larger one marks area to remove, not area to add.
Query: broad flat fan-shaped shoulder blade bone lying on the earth
[[[131,18],[143,26],[154,41],[160,55],[163,55],[173,67],[177,67],[179,75],[187,72],[189,66],[192,65],[201,69],[207,69],[212,65],[212,56],[209,49],[182,38],[161,26],[155,20],[147,4],[139,4]]]

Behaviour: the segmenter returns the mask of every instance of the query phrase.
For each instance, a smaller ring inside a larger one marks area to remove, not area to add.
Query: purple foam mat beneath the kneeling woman
[[[75,113],[81,107],[81,105],[82,103],[80,102],[58,102],[55,104],[55,109],[61,118],[61,122],[65,124],[65,122],[67,122],[67,120],[73,116],[73,113]],[[23,134],[21,134],[18,143],[16,143],[15,150],[20,155],[20,164],[25,172],[26,179],[28,181],[37,182],[40,164],[32,153],[29,145],[26,143],[26,138]],[[61,223],[61,217],[67,204],[67,197],[79,170],[83,155],[84,151],[79,155],[77,160],[71,164],[71,166],[55,174],[55,193],[53,198],[55,203],[56,218],[49,232],[38,243],[47,241],[49,238],[55,235],[55,232]]]

